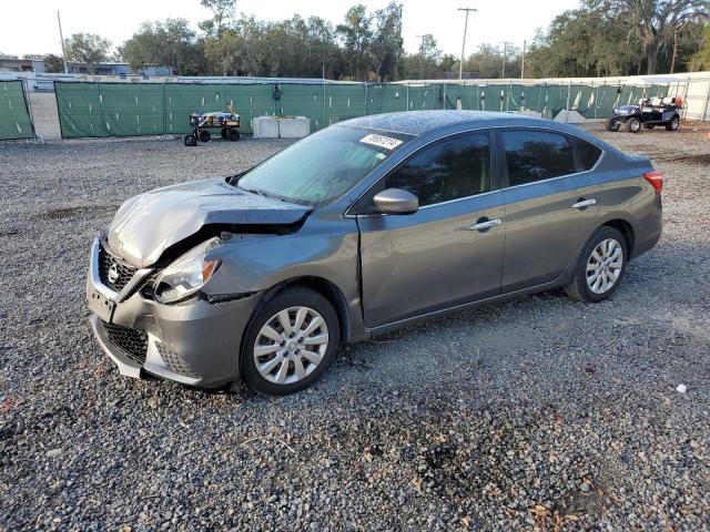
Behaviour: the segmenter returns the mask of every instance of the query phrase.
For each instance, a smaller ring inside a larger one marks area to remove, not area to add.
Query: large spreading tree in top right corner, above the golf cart
[[[690,21],[707,18],[709,9],[707,0],[605,0],[600,6],[627,22],[629,37],[640,39],[648,74],[656,73],[661,51],[678,42]]]

